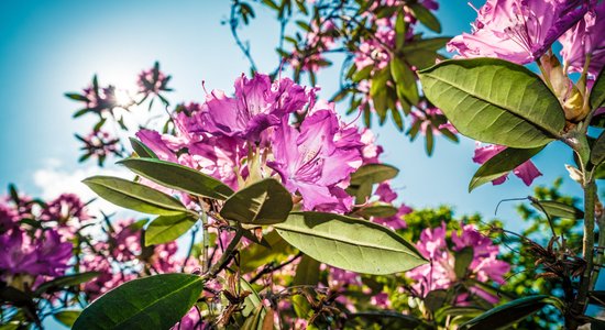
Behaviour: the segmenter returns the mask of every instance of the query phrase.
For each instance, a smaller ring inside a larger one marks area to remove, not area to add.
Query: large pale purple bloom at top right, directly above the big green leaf
[[[527,64],[582,19],[587,0],[487,0],[471,34],[455,36],[449,52],[460,57],[496,57]]]

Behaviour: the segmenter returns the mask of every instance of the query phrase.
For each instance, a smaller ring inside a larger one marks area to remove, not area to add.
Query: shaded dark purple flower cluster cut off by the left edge
[[[80,221],[89,219],[73,195],[62,195],[48,204],[16,193],[12,198],[2,198],[0,282],[30,290],[64,275],[73,256],[67,231],[77,230]]]

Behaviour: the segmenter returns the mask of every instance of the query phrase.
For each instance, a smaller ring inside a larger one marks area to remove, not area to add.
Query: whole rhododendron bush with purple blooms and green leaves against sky
[[[438,8],[235,0],[224,23],[251,73],[232,87],[205,81],[174,106],[155,63],[138,90],[95,76],[66,94],[75,120],[96,120],[76,135],[80,162],[131,173],[82,183],[124,212],[11,186],[0,199],[2,329],[48,317],[74,329],[605,327],[593,310],[605,308],[605,3],[487,0],[454,37],[430,36]],[[240,36],[257,11],[280,26],[270,73]],[[318,73],[330,66],[341,75],[326,99]],[[469,190],[509,173],[530,186],[542,175],[531,158],[560,141],[583,196],[560,194],[561,179],[536,187],[518,206],[519,232],[414,210],[371,129],[387,121],[422,135],[428,155],[436,136],[475,140]]]

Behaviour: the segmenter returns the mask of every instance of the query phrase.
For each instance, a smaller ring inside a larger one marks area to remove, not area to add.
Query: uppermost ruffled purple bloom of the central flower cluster
[[[221,90],[207,96],[198,120],[205,132],[257,141],[262,131],[287,121],[288,113],[309,100],[305,89],[289,79],[272,85],[267,75],[256,74],[252,79],[242,75],[233,98]]]

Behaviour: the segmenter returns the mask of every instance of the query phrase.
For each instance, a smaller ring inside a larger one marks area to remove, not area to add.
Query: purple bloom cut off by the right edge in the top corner
[[[559,41],[563,45],[561,56],[570,72],[581,73],[590,56],[588,73],[598,75],[605,65],[605,2],[586,12]]]

